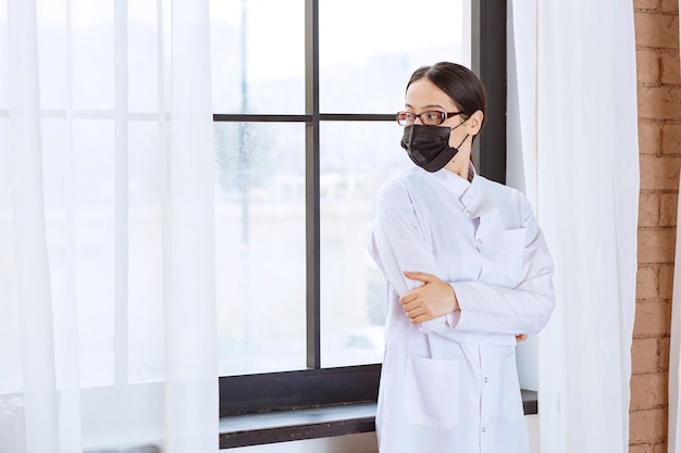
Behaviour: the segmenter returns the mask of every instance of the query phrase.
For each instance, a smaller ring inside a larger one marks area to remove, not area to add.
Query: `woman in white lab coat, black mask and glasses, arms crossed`
[[[382,185],[369,243],[388,285],[382,453],[528,453],[516,342],[546,325],[554,267],[524,196],[475,173],[485,102],[442,62],[397,113],[416,166]]]

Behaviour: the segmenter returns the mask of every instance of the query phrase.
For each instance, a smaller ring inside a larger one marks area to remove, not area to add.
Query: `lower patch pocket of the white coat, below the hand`
[[[411,424],[453,428],[459,420],[459,363],[410,355],[404,411]]]

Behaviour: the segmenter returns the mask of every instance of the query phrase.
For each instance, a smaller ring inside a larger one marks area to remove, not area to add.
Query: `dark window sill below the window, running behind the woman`
[[[525,415],[537,413],[535,391],[522,390]],[[376,403],[277,411],[220,418],[220,449],[371,432]]]

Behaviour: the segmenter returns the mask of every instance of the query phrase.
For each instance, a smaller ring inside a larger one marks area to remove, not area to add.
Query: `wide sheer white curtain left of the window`
[[[0,0],[0,452],[215,452],[208,0]]]

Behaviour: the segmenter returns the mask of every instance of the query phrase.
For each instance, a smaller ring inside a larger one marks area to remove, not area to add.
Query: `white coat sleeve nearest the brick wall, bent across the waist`
[[[554,264],[529,203],[523,203],[527,228],[522,270],[515,288],[483,281],[450,282],[461,312],[456,330],[495,334],[536,334],[555,306]]]

